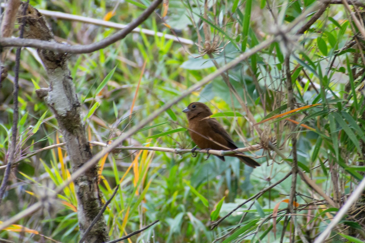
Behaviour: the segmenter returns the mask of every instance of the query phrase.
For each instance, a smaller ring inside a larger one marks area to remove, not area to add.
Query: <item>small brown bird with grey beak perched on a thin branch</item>
[[[189,134],[201,149],[230,150],[237,149],[232,138],[215,118],[210,118],[212,111],[203,103],[193,102],[183,110],[189,122]],[[217,156],[217,155],[216,155]],[[260,164],[243,154],[229,154],[237,157],[246,165],[256,168]],[[224,161],[224,156],[217,156]]]

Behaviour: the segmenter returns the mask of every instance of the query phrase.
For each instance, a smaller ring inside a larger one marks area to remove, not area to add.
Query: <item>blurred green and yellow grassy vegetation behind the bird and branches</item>
[[[32,0],[30,4],[39,10],[127,24],[141,14],[149,1]],[[227,73],[231,86],[255,121],[272,118],[288,111],[284,58],[292,48],[290,69],[296,108],[320,103],[295,113],[295,121],[307,127],[299,124],[295,130],[289,129],[291,121],[285,118],[290,115],[286,115],[258,125],[264,130],[264,136],[260,137],[245,119],[246,113],[232,89],[218,77],[123,142],[123,146],[193,148],[195,144],[187,130],[176,132],[175,129],[186,128],[185,114],[181,111],[190,102],[199,101],[207,104],[213,113],[235,111],[223,113],[218,120],[238,147],[272,141],[287,158],[272,150],[254,151],[251,155],[263,156],[257,159],[261,166],[252,169],[236,158],[222,162],[211,156],[205,160],[206,155],[202,153],[197,157],[191,153],[177,155],[147,150],[107,154],[99,163],[104,201],[120,184],[104,213],[111,239],[159,219],[159,223],[128,242],[213,242],[232,229],[231,234],[218,242],[259,239],[301,242],[297,235],[293,236],[291,224],[283,230],[283,223],[288,219],[285,218],[287,211],[281,209],[288,207],[285,199],[289,198],[291,177],[210,230],[214,220],[291,171],[292,142],[288,138],[292,133],[297,137],[299,170],[314,180],[337,203],[337,208],[346,202],[365,168],[364,42],[361,31],[341,4],[328,5],[304,35],[295,35],[319,10],[318,4],[315,0],[227,0],[208,1],[204,8],[204,1],[170,0],[141,28],[176,35],[196,44],[182,44],[165,35],[134,32],[100,51],[71,55],[69,67],[82,103],[89,141],[108,142],[215,71],[216,65],[223,66],[264,40],[279,35],[280,30],[309,11],[284,39],[256,52]],[[361,7],[364,6],[350,5],[355,13]],[[115,31],[62,17],[46,16],[46,19],[58,41],[68,44],[93,43]],[[210,46],[216,47],[214,51],[209,51]],[[15,49],[9,55],[10,71],[0,90],[1,165],[7,160],[11,136],[14,59]],[[100,86],[105,77],[110,79]],[[63,140],[53,114],[35,94],[36,89],[48,84],[46,71],[32,48],[23,48],[19,86],[17,164],[0,205],[3,221],[47,195],[70,176],[64,146],[39,151]],[[92,150],[95,154],[100,147],[92,146]],[[59,242],[76,242],[80,234],[74,193],[70,184],[42,211],[18,222],[26,227],[25,231],[19,232],[16,227],[20,226],[13,226],[1,231],[0,238],[13,242],[50,242],[44,235]],[[359,236],[365,225],[361,200],[338,225],[329,242],[343,238],[349,242],[356,242],[356,238],[359,242],[364,240]],[[337,208],[328,206],[299,177],[295,201],[301,205],[296,227],[311,242],[327,226]],[[274,219],[273,213],[278,215]]]

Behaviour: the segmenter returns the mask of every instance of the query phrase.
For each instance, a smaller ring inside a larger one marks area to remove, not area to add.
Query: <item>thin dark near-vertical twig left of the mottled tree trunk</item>
[[[29,0],[26,3],[26,6],[28,5]],[[25,8],[27,9],[27,8]],[[26,11],[24,10],[23,16],[25,15]],[[24,33],[24,24],[25,24],[25,18],[22,19],[22,26],[20,27],[20,35],[19,38],[23,38]],[[18,134],[18,119],[19,119],[19,111],[18,111],[18,91],[19,91],[19,67],[20,67],[20,51],[22,50],[21,47],[16,49],[16,59],[15,59],[15,75],[14,75],[14,90],[13,90],[13,105],[14,105],[14,111],[13,111],[13,125],[12,125],[12,134],[11,134],[11,144],[9,149],[9,160],[7,163],[7,167],[5,169],[3,181],[1,182],[0,186],[0,204],[1,200],[3,199],[6,186],[8,184],[9,175],[11,172],[11,165],[14,161],[14,155],[15,155],[15,146],[16,146],[16,135]]]

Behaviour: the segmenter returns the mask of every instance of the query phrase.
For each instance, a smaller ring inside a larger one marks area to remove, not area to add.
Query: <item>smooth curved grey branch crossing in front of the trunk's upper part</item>
[[[139,15],[136,19],[134,19],[126,28],[116,32],[115,34],[108,36],[107,38],[100,40],[99,42],[95,42],[89,45],[77,45],[77,46],[66,46],[65,44],[58,44],[54,42],[37,40],[37,39],[14,39],[14,38],[1,38],[0,46],[8,47],[8,46],[23,46],[23,47],[35,47],[42,48],[43,50],[53,50],[56,52],[67,52],[67,53],[90,53],[93,51],[100,50],[104,47],[109,46],[110,44],[115,43],[118,40],[126,37],[134,28],[138,27],[143,21],[147,19],[153,13],[153,11],[157,8],[157,6],[162,2],[162,0],[154,0],[151,5],[146,8],[146,10]]]

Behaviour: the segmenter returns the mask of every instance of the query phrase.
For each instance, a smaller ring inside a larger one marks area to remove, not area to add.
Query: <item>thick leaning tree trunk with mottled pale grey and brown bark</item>
[[[20,6],[18,14],[23,12],[24,7],[24,4]],[[45,18],[30,5],[27,9],[24,38],[55,42]],[[47,103],[57,119],[74,172],[92,157],[92,153],[82,124],[80,102],[70,77],[68,55],[41,49],[38,50],[38,54],[47,70],[50,86],[36,90],[36,93]],[[83,235],[102,207],[96,166],[77,178],[74,184],[78,224]],[[105,219],[100,217],[88,233],[85,242],[101,243],[108,240]]]

